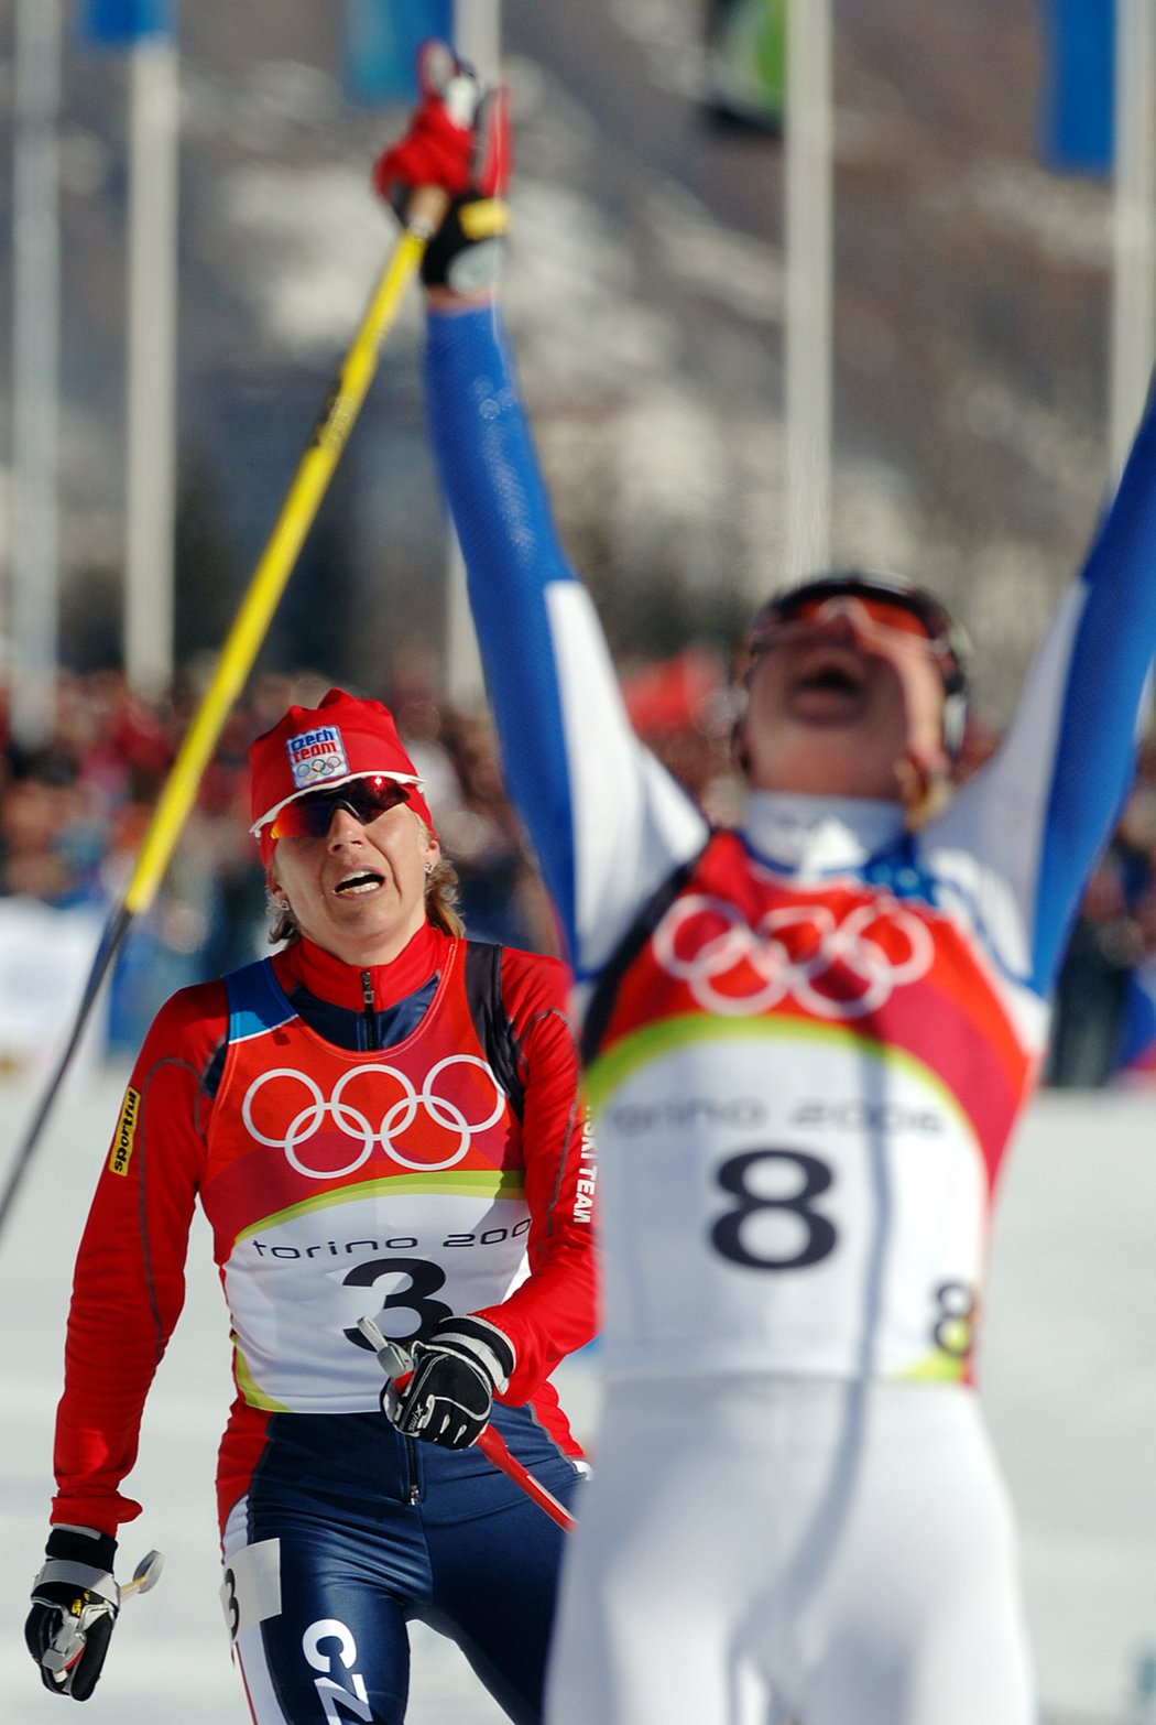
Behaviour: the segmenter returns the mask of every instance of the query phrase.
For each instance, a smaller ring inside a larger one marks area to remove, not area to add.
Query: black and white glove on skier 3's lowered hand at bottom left
[[[112,1578],[116,1540],[110,1534],[55,1527],[45,1559],[33,1582],[24,1640],[45,1689],[88,1701],[121,1609],[121,1589]]]

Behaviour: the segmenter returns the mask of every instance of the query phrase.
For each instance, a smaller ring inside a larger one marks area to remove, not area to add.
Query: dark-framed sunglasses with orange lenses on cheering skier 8
[[[788,638],[792,630],[839,616],[849,616],[868,638],[899,638],[923,647],[949,695],[966,687],[966,649],[959,626],[932,593],[897,578],[823,576],[776,595],[754,618],[747,654],[754,661]]]

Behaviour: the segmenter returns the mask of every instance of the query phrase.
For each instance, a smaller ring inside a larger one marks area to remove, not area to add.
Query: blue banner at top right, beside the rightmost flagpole
[[[1040,148],[1051,167],[1111,172],[1115,91],[1115,0],[1044,0]]]

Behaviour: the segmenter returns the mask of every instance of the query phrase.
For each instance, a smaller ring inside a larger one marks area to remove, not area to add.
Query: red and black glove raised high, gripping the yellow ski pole
[[[402,221],[414,191],[440,186],[450,205],[421,259],[428,288],[471,293],[495,285],[509,228],[509,112],[442,41],[418,55],[421,104],[405,136],[373,167],[373,185]]]

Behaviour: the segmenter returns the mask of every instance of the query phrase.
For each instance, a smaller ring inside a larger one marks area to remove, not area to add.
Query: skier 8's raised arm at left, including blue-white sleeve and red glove
[[[502,228],[492,210],[509,171],[502,109],[462,102],[440,52],[424,57],[423,81],[411,131],[374,183],[395,205],[430,183],[454,200],[423,266],[430,428],[506,776],[583,980],[699,849],[706,821],[630,728],[594,605],[557,540],[500,312],[478,286]]]

